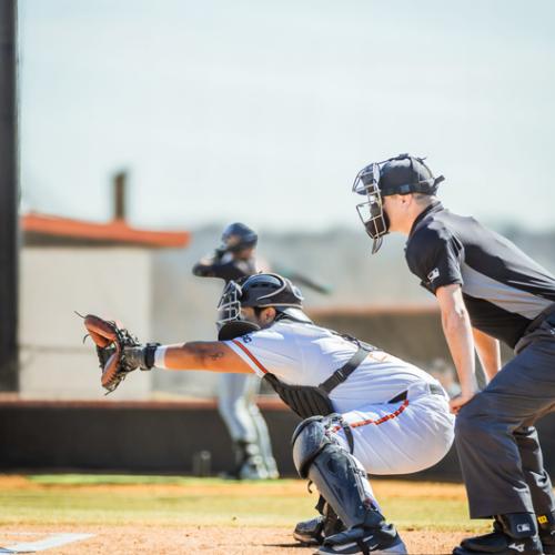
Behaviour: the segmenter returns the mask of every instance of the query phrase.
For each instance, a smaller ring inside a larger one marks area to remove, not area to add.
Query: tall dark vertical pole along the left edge
[[[17,0],[0,0],[0,391],[18,391]]]

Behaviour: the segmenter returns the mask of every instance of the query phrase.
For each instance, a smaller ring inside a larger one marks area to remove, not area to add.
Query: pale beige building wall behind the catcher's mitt
[[[151,334],[151,255],[130,249],[26,248],[21,252],[20,383],[23,398],[100,398],[100,370],[74,314],[129,322]],[[111,400],[147,398],[151,375],[130,375]]]

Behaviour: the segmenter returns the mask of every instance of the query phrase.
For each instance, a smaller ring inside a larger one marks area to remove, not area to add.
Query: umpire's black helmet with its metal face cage
[[[387,214],[382,198],[390,194],[435,194],[444,176],[434,178],[423,158],[400,154],[363,168],[353,183],[353,192],[365,194],[367,201],[356,205],[366,233],[374,240],[372,254],[380,250],[389,233]]]

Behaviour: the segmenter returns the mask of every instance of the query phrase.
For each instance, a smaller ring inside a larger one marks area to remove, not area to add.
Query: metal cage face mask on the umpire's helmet
[[[356,205],[359,216],[366,233],[373,239],[372,254],[382,246],[383,235],[389,233],[390,222],[383,210],[380,192],[380,165],[370,164],[359,172],[353,183],[353,192],[366,195],[366,201]]]

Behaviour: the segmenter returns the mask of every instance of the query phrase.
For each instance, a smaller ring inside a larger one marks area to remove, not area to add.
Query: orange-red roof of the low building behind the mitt
[[[21,218],[24,242],[29,245],[129,245],[178,249],[190,241],[186,231],[152,231],[132,228],[124,220],[85,222],[38,213]]]

